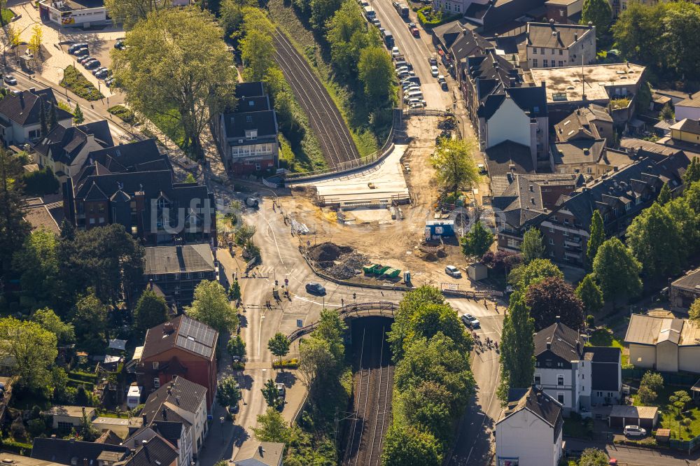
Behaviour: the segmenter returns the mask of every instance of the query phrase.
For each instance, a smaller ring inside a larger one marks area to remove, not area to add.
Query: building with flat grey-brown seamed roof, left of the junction
[[[144,281],[157,284],[166,301],[172,299],[178,307],[192,304],[201,281],[216,280],[209,243],[152,246],[145,251]]]

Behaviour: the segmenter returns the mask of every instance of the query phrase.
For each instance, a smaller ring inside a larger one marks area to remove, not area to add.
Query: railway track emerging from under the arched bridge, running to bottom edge
[[[381,465],[381,446],[391,422],[393,386],[393,366],[384,345],[384,330],[385,327],[381,327],[381,333],[374,331],[367,335],[370,339],[368,348],[365,348],[366,330],[363,332],[354,416],[349,425],[342,465]]]

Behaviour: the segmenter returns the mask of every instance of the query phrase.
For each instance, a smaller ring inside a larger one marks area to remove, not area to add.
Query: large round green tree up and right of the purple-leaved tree
[[[605,299],[638,295],[642,290],[641,268],[630,250],[616,237],[601,244],[593,261],[593,273]]]

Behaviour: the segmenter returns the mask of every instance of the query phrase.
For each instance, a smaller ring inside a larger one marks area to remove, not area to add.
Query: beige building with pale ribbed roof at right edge
[[[690,320],[633,314],[624,341],[634,367],[700,374],[700,326]]]

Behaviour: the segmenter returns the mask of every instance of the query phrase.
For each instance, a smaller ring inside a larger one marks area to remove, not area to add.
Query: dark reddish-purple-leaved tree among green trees
[[[583,303],[561,278],[549,277],[533,283],[527,289],[525,302],[532,310],[537,332],[556,322],[557,316],[574,330],[583,327]]]

